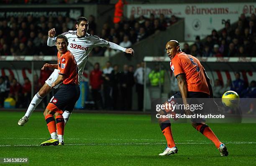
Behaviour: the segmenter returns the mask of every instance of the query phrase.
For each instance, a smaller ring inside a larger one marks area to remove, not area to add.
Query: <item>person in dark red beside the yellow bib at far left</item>
[[[13,82],[10,83],[10,95],[16,101],[16,108],[20,108],[22,106],[22,86],[20,85],[20,83],[17,82],[15,78],[13,79]]]

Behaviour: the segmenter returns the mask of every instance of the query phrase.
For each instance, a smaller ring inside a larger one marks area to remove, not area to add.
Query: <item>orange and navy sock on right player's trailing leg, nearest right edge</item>
[[[217,138],[217,136],[215,136],[215,134],[213,133],[213,131],[211,130],[211,128],[209,126],[201,123],[201,124],[197,125],[196,129],[197,129],[197,131],[200,131],[200,133],[202,133],[208,139],[210,139],[215,144],[216,148],[220,147],[220,144],[222,142],[220,142],[220,140]]]

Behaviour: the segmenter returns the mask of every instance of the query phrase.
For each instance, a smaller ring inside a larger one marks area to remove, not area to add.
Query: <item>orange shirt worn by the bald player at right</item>
[[[170,62],[175,78],[179,74],[185,74],[189,92],[203,92],[210,95],[207,81],[204,75],[205,68],[200,61],[192,55],[179,52]]]

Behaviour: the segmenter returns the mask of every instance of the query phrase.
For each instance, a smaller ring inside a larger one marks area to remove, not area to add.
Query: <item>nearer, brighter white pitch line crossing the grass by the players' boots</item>
[[[164,145],[166,143],[74,143],[74,144],[65,144],[68,146],[112,146],[112,145]],[[189,145],[189,144],[212,144],[211,142],[180,142],[177,143]],[[225,144],[256,144],[256,142],[225,142]],[[0,145],[0,147],[6,146],[40,146],[39,144],[16,144],[16,145]]]

